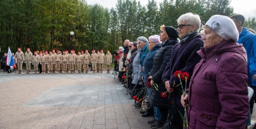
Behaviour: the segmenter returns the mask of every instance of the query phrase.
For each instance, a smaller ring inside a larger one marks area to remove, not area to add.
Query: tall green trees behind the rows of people
[[[34,50],[103,49],[113,52],[124,40],[159,34],[160,26],[176,26],[180,15],[200,15],[204,24],[212,15],[231,16],[229,0],[117,0],[115,8],[85,0],[1,0],[0,46],[15,52],[18,47]],[[159,5],[159,6],[158,6]],[[255,17],[245,26],[255,29]],[[70,36],[70,32],[74,36]]]

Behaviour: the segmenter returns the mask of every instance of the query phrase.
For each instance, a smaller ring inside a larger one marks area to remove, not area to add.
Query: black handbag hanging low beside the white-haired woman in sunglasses
[[[171,93],[171,95],[173,96],[172,93]],[[172,106],[171,103],[172,103],[172,99],[170,99],[168,117],[167,117],[167,120],[164,123],[164,126],[162,127],[162,129],[177,129],[176,124],[174,123],[174,121],[171,118],[171,106]],[[175,99],[174,99],[174,105],[176,105]],[[174,106],[174,107],[176,107],[176,106]]]

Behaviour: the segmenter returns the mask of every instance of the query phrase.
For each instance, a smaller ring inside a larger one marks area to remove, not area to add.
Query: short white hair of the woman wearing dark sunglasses
[[[197,14],[193,14],[193,13],[186,13],[181,15],[178,18],[178,23],[180,21],[184,21],[189,25],[195,25],[196,26],[196,30],[195,31],[199,31],[200,30],[200,25],[201,25],[201,20],[199,15]]]

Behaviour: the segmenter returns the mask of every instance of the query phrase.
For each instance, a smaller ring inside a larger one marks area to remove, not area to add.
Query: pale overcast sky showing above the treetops
[[[89,4],[99,3],[104,7],[115,8],[117,0],[87,0]],[[148,0],[136,0],[141,1],[141,4],[146,5]],[[155,0],[157,3],[163,0]],[[256,0],[232,0],[231,6],[234,8],[235,13],[244,15],[245,17],[256,17]]]

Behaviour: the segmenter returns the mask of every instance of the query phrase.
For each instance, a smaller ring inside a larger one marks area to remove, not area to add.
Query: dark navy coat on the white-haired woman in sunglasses
[[[174,76],[174,72],[176,71],[181,71],[182,73],[188,72],[189,75],[192,75],[194,67],[201,60],[201,57],[196,53],[201,47],[203,47],[201,34],[197,34],[182,44],[180,42],[176,44],[172,50],[170,62],[167,64],[166,69],[164,70],[162,76],[163,83],[165,81],[169,81],[170,87],[173,86],[174,81],[176,82],[176,85],[180,84],[180,79]],[[182,83],[182,85],[185,87],[185,81]],[[188,85],[189,81],[187,82],[187,86]],[[179,106],[182,106],[180,103],[180,96],[182,95],[181,91],[182,88],[179,86],[173,92],[173,94],[176,96],[176,103]],[[172,101],[174,101],[173,98]]]

